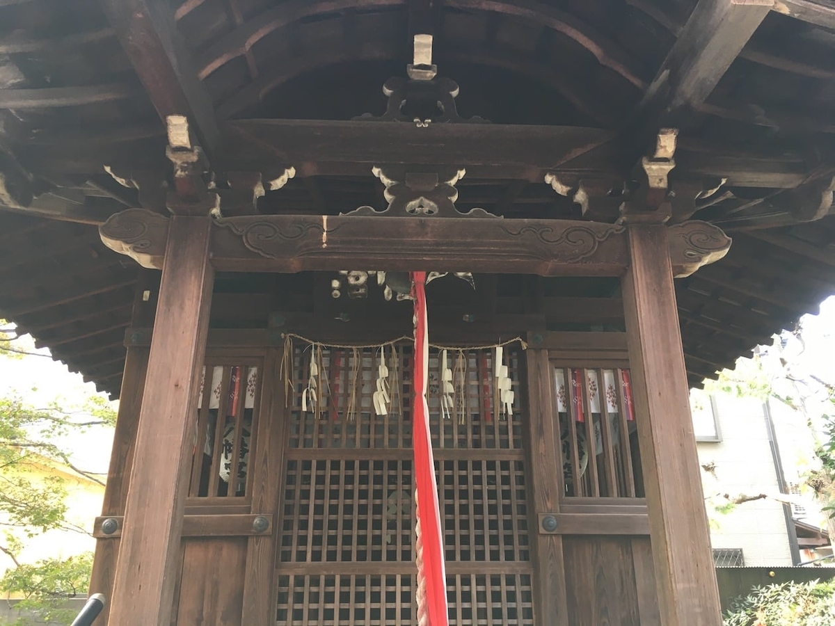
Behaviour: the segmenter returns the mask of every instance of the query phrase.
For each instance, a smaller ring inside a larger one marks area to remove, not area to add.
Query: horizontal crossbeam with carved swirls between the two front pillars
[[[274,215],[218,225],[213,256],[219,269],[619,275],[627,263],[624,229],[596,222]]]

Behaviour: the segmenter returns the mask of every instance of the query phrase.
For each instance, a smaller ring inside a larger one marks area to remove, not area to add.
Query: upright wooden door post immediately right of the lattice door
[[[548,351],[529,348],[525,351],[528,376],[530,502],[537,513],[559,512],[562,467],[559,452],[559,425],[554,398],[553,368]],[[531,516],[529,523],[539,519]],[[568,626],[573,621],[565,599],[563,538],[559,535],[531,533],[534,557],[536,613],[540,623]],[[504,564],[504,563],[503,563]],[[481,564],[479,563],[479,567]]]

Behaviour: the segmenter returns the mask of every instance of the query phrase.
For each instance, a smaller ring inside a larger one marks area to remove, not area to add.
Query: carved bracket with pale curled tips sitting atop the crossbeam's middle
[[[466,170],[447,168],[434,172],[407,172],[403,168],[373,168],[372,172],[386,185],[383,196],[388,200],[385,210],[361,206],[342,215],[384,217],[498,217],[483,209],[471,209],[461,213],[455,208],[458,189],[455,184]]]

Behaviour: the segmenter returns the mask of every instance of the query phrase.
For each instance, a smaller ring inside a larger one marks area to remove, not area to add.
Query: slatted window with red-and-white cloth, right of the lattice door
[[[559,366],[554,384],[565,495],[642,496],[630,371]]]

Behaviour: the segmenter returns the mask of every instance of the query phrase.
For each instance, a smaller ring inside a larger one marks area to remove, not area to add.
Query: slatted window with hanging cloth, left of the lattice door
[[[259,371],[256,363],[246,362],[210,362],[203,368],[190,497],[247,495],[261,392]]]

